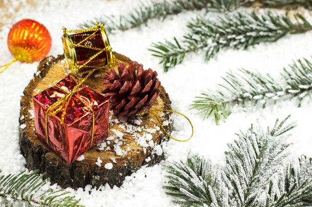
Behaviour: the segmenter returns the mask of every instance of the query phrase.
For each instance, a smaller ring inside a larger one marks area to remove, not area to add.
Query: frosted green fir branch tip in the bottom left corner
[[[80,200],[64,190],[44,189],[48,179],[37,171],[0,177],[0,206],[2,207],[83,207]]]

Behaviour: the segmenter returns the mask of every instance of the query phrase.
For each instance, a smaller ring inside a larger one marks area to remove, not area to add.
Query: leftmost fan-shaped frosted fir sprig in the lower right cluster
[[[169,186],[163,186],[168,190],[167,195],[182,198],[186,201],[173,201],[183,206],[227,206],[227,200],[222,201],[223,195],[228,194],[229,189],[224,185],[228,181],[225,173],[214,166],[210,160],[205,160],[198,155],[189,156],[187,162],[173,162],[165,166],[168,175]],[[188,200],[188,198],[190,200]]]

